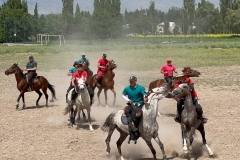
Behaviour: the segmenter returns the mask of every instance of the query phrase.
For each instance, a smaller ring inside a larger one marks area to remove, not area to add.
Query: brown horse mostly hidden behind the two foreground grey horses
[[[182,69],[182,72],[183,72],[184,76],[187,76],[187,77],[199,77],[199,75],[201,74],[197,70],[194,70],[194,69],[192,69],[191,67],[188,67],[188,66],[184,67]],[[163,86],[163,85],[166,85],[166,83],[164,82],[164,79],[157,79],[155,81],[152,81],[149,84],[148,90],[151,90],[153,88],[160,87],[160,86]],[[171,91],[174,89],[173,87],[174,87],[174,85],[172,86]],[[172,96],[167,95],[166,98],[172,98]]]

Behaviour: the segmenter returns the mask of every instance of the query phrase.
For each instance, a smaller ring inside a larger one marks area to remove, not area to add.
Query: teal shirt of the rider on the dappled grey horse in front
[[[122,94],[128,96],[128,99],[132,100],[133,103],[142,104],[144,101],[143,97],[146,93],[145,88],[142,85],[137,84],[135,88],[132,88],[130,85],[127,86],[124,88]]]

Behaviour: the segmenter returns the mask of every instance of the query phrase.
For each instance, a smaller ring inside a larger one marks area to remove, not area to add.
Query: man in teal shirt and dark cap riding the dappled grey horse
[[[131,76],[129,82],[130,85],[124,88],[122,97],[128,102],[126,116],[130,133],[129,142],[130,140],[135,140],[136,143],[136,140],[139,138],[138,125],[141,120],[141,108],[148,100],[145,97],[145,88],[137,84],[137,77]]]

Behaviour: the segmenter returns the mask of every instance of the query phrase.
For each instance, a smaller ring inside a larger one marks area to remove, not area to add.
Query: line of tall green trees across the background
[[[74,0],[62,0],[62,13],[28,13],[27,0],[7,0],[0,6],[0,42],[36,40],[36,35],[61,34],[69,39],[119,38],[128,33],[157,34],[164,22],[164,34],[239,33],[240,0],[220,0],[220,8],[207,0],[183,0],[183,6],[167,12],[148,8],[121,13],[120,0],[94,0],[94,11],[82,11]],[[169,22],[176,24],[170,32]],[[125,27],[124,27],[125,26]]]

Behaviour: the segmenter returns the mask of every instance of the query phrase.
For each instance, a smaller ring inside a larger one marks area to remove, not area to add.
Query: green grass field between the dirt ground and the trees
[[[215,45],[215,47],[213,47]],[[225,46],[225,47],[224,47]],[[29,55],[34,55],[40,70],[68,70],[74,60],[81,57],[85,52],[90,61],[100,58],[106,53],[109,59],[114,59],[118,64],[118,71],[139,71],[138,76],[142,83],[148,84],[152,79],[159,78],[159,68],[165,64],[167,57],[173,59],[173,64],[180,70],[184,66],[193,68],[209,67],[210,72],[216,77],[228,75],[236,81],[229,85],[238,85],[240,72],[234,67],[227,74],[225,68],[240,66],[240,43],[217,42],[217,43],[192,43],[192,44],[144,44],[144,45],[65,45],[65,46],[1,46],[0,69],[5,70],[13,63],[19,63],[23,68]],[[91,68],[96,68],[97,62],[91,61]],[[212,71],[213,67],[220,67]],[[95,69],[94,69],[95,70]],[[152,71],[152,72],[149,72]],[[197,79],[210,84],[206,79]],[[229,83],[226,81],[211,82],[212,86]]]

